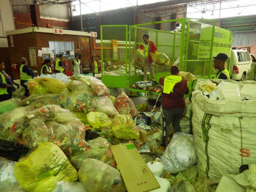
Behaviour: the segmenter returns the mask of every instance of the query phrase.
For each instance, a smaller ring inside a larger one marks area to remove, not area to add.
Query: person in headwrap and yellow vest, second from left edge
[[[33,70],[28,67],[28,61],[25,57],[22,57],[20,59],[20,85],[25,88],[25,96],[29,96],[29,90],[28,86],[25,85],[24,83],[28,82],[28,80],[33,79],[34,77],[34,72]]]

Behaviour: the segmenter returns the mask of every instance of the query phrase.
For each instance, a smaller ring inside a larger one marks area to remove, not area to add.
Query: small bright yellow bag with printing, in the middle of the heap
[[[111,119],[104,113],[91,111],[86,115],[87,122],[96,131],[101,131],[102,128],[111,124]]]

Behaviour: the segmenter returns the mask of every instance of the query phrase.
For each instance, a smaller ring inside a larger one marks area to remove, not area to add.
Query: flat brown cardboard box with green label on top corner
[[[147,192],[160,188],[155,176],[133,143],[111,145],[110,149],[128,192]]]

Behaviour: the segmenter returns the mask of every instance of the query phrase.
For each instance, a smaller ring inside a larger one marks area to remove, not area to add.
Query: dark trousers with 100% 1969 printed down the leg
[[[177,109],[162,109],[162,127],[163,127],[163,132],[162,132],[162,143],[161,146],[165,146],[166,141],[169,137],[169,127],[170,124],[172,123],[174,132],[181,132],[180,129],[180,118],[184,112],[184,107],[183,108],[177,108]]]

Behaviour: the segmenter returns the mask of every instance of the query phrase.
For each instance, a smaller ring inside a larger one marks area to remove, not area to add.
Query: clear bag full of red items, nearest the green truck
[[[134,117],[139,113],[133,101],[125,94],[125,92],[121,92],[121,94],[116,98],[114,106],[119,114],[122,115],[130,114]]]

